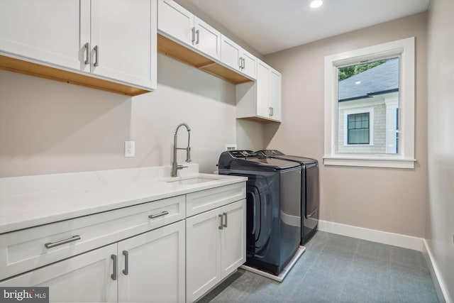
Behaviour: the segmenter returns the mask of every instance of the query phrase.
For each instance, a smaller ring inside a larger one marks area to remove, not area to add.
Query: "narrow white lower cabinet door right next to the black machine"
[[[221,278],[234,272],[246,262],[246,200],[221,208]]]

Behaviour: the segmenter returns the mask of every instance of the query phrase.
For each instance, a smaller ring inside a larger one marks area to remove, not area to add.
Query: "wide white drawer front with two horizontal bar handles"
[[[0,235],[0,280],[184,219],[184,196]]]

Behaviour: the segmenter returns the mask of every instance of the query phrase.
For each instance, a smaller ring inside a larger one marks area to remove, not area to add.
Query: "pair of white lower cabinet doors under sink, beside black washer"
[[[245,199],[186,219],[186,299],[194,302],[245,263]]]

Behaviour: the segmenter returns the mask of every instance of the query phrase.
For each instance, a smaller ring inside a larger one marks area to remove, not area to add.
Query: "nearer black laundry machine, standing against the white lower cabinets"
[[[218,171],[248,177],[245,265],[279,275],[301,241],[301,165],[231,150],[221,153]]]

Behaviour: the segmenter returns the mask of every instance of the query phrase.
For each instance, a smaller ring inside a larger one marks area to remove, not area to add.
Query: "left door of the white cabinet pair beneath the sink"
[[[186,219],[186,299],[194,302],[221,281],[219,209]]]

